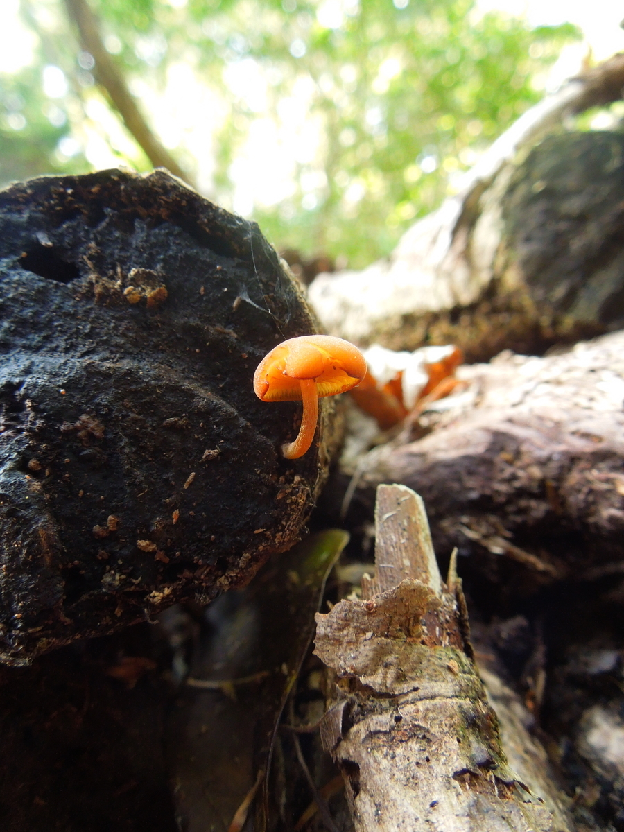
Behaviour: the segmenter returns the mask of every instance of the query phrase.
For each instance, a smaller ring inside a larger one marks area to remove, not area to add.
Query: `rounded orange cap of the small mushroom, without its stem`
[[[355,387],[366,375],[357,347],[332,335],[302,335],[278,344],[254,374],[254,390],[263,402],[301,400],[302,379],[314,379],[316,393],[334,396]]]

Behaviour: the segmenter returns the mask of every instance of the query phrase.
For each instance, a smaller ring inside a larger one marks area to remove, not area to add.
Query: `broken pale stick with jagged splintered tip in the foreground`
[[[455,559],[445,585],[422,499],[379,486],[375,526],[363,600],[316,616],[315,653],[334,672],[321,737],[356,832],[568,832],[565,810],[508,766]]]

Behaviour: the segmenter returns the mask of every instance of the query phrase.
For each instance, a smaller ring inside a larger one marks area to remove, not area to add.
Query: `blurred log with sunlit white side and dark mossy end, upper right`
[[[624,55],[572,79],[503,133],[388,260],[319,275],[310,300],[324,328],[392,349],[453,343],[474,361],[622,327],[624,139],[562,124],[623,85]]]

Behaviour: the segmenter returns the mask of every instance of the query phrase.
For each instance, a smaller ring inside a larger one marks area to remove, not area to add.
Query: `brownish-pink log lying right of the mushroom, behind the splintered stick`
[[[499,600],[621,562],[623,352],[617,332],[461,368],[466,389],[359,458],[356,499],[379,483],[422,494],[438,552],[457,546]]]

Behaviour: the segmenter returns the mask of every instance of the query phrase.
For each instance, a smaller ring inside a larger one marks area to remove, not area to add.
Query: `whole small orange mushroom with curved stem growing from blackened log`
[[[302,457],[310,448],[319,417],[319,398],[345,393],[366,375],[366,361],[357,347],[331,335],[302,335],[278,344],[254,374],[254,390],[263,402],[304,405],[295,442],[282,445],[286,459]]]

